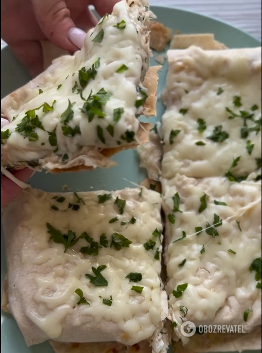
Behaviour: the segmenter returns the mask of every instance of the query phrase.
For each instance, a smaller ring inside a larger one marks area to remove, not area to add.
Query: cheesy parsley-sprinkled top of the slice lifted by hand
[[[26,92],[20,108],[4,113],[4,166],[37,167],[55,154],[67,162],[83,147],[112,148],[136,141],[147,97],[141,85],[149,62],[147,2],[117,3],[89,32],[75,57],[58,60],[44,83]]]

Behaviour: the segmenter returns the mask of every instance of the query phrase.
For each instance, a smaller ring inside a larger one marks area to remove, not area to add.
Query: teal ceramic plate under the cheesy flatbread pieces
[[[177,9],[153,6],[152,10],[157,15],[158,21],[172,28],[174,32],[180,30],[183,34],[214,33],[216,39],[229,48],[261,45],[248,34],[221,21]],[[154,59],[151,60],[151,65],[156,65]],[[159,96],[165,84],[166,73],[167,64],[160,71]],[[8,48],[4,48],[1,51],[1,98],[26,83],[28,79],[26,71],[18,60]],[[157,120],[161,119],[163,111],[164,108],[159,102]],[[155,121],[156,118],[151,119],[151,122]],[[59,175],[37,173],[31,179],[31,185],[45,191],[57,192],[61,191],[61,187],[65,184],[70,191],[114,190],[132,187],[132,183],[139,184],[145,178],[144,171],[139,169],[138,156],[135,151],[124,151],[115,156],[114,160],[118,162],[118,166],[106,170],[97,169],[92,172]],[[3,243],[1,232],[1,291],[6,273]],[[53,353],[53,350],[48,343],[27,348],[15,321],[10,315],[3,313],[1,315],[1,353]]]

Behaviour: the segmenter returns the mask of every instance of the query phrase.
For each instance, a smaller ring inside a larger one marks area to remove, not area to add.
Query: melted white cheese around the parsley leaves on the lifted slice
[[[147,11],[147,12],[146,12]],[[10,124],[4,126],[1,131],[9,130],[10,137],[4,140],[1,146],[2,153],[5,153],[5,160],[8,165],[20,165],[24,161],[39,161],[52,155],[56,146],[49,143],[49,133],[55,130],[58,151],[55,153],[62,157],[67,154],[69,160],[80,153],[84,146],[95,146],[100,148],[118,147],[119,142],[126,145],[122,137],[126,131],[136,133],[139,128],[139,121],[136,114],[140,111],[136,107],[136,101],[141,98],[137,88],[141,79],[148,69],[148,49],[146,44],[146,24],[149,21],[150,13],[147,6],[141,4],[131,8],[123,0],[114,7],[112,15],[105,17],[101,24],[98,24],[94,31],[90,31],[84,41],[82,50],[75,58],[64,57],[60,60],[60,67],[52,74],[46,74],[45,83],[35,87],[28,93],[28,98],[17,110],[9,109],[5,114],[11,120]],[[125,21],[126,27],[121,30],[116,25]],[[104,31],[101,42],[93,42],[94,38]],[[79,70],[82,67],[86,70],[100,60],[100,67],[94,79],[91,79],[83,89],[82,96],[87,99],[89,95],[96,94],[102,88],[112,94],[112,97],[103,107],[104,118],[95,116],[93,121],[88,121],[88,115],[81,112],[84,101],[77,93],[81,88],[79,83]],[[117,70],[126,65],[128,69],[122,73]],[[75,91],[73,87],[77,84]],[[60,88],[58,88],[60,87]],[[39,94],[39,89],[42,93]],[[28,90],[29,91],[29,90]],[[29,141],[16,131],[17,126],[25,117],[25,113],[31,109],[40,107],[44,102],[52,106],[53,111],[36,111],[44,128],[36,128],[35,132],[39,139],[36,142]],[[61,114],[68,107],[68,101],[74,106],[73,119],[67,123],[68,127],[79,127],[81,133],[74,137],[66,137],[63,134],[64,124],[60,121]],[[114,109],[123,108],[123,114],[118,123],[114,121]],[[16,118],[12,121],[12,118]],[[107,131],[109,125],[114,126],[114,136]],[[98,126],[103,131],[103,138],[99,137]],[[104,139],[104,141],[103,141]],[[130,141],[129,141],[130,142]]]

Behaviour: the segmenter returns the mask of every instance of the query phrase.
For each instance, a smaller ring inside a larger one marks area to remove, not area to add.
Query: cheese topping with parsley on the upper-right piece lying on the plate
[[[262,157],[261,48],[168,53],[168,110],[162,119],[164,178],[177,173],[238,179]]]

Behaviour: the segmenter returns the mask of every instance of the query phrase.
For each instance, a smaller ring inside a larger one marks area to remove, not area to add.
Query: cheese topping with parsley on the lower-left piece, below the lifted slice
[[[133,345],[161,330],[160,194],[31,189],[12,207],[23,211],[4,215],[9,300],[27,344]]]

